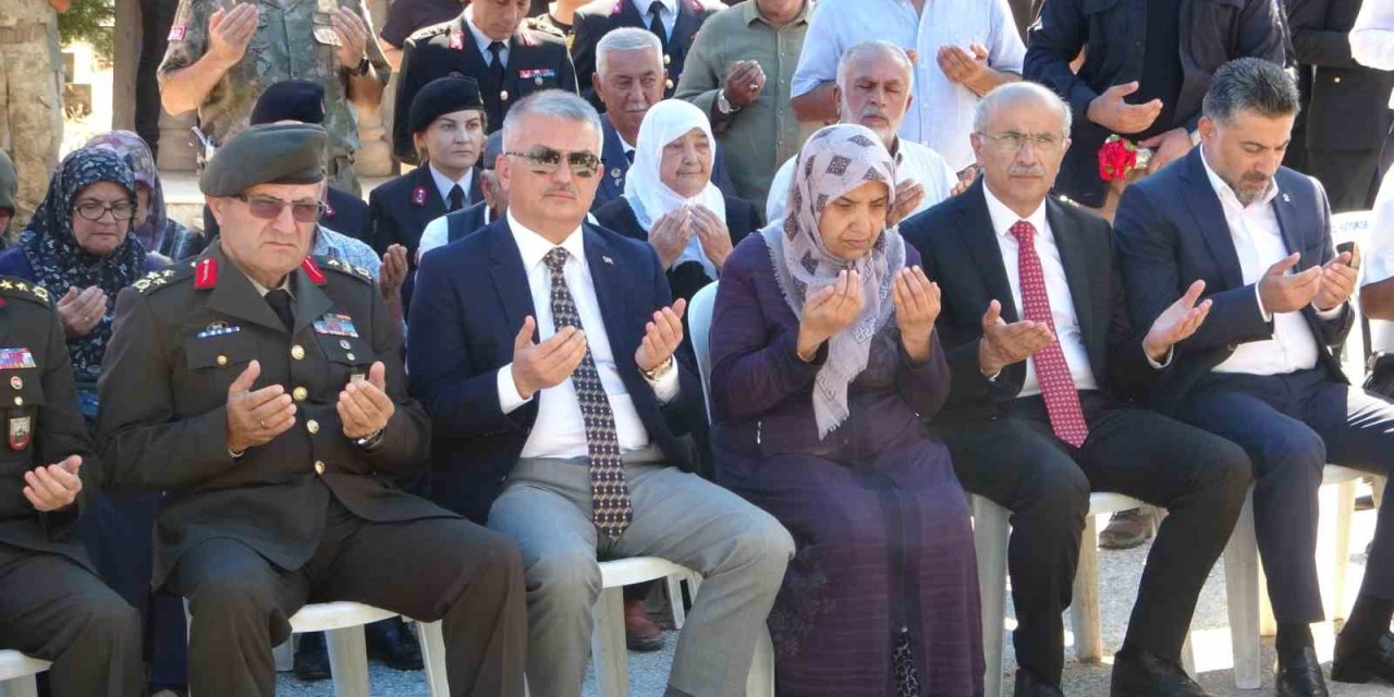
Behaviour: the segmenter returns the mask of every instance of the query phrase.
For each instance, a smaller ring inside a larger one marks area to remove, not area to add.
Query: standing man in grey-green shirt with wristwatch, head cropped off
[[[675,96],[711,116],[736,195],[746,201],[765,199],[779,163],[813,132],[789,105],[811,13],[810,0],[746,0],[714,14],[677,81]]]

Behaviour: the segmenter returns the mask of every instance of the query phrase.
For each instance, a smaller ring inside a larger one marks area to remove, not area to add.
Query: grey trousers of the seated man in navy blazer
[[[590,652],[598,559],[658,556],[703,574],[669,675],[669,694],[736,697],[793,556],[793,538],[764,510],[676,467],[626,464],[634,519],[616,541],[591,521],[584,460],[521,460],[489,527],[523,552],[533,694],[579,697]]]

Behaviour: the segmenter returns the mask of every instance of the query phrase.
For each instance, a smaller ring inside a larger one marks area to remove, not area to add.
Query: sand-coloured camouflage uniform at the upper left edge
[[[14,230],[33,215],[59,166],[63,72],[47,0],[0,1],[0,146],[20,173]]]

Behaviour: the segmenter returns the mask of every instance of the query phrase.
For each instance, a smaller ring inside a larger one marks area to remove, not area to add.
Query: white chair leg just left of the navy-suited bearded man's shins
[[[1224,551],[1225,601],[1230,606],[1230,643],[1234,647],[1234,686],[1257,690],[1262,684],[1259,644],[1259,541],[1253,530],[1253,492]]]

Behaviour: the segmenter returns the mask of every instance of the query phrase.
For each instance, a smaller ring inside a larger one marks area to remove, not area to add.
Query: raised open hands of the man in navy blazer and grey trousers
[[[683,343],[683,311],[687,301],[679,298],[671,307],[654,312],[644,326],[644,339],[634,351],[634,365],[641,372],[654,372],[668,362]],[[523,319],[523,328],[513,337],[513,386],[519,396],[533,399],[539,390],[566,382],[585,358],[585,332],[563,326],[541,343],[533,342],[537,321]]]

